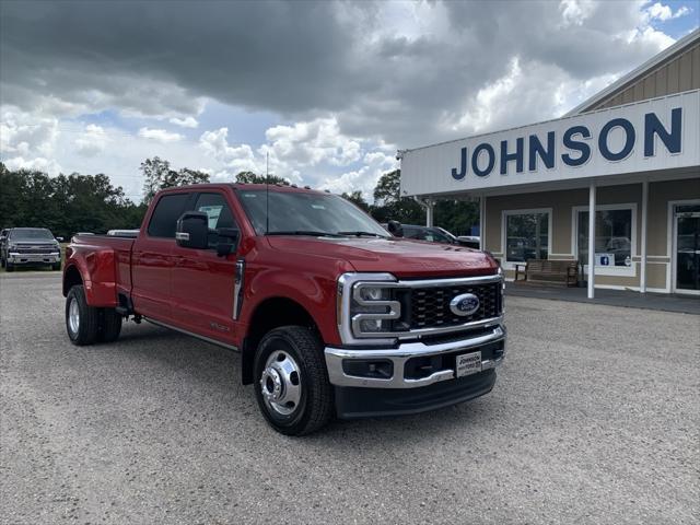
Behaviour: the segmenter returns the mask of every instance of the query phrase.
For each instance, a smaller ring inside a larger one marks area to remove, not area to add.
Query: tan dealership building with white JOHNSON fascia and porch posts
[[[479,199],[481,246],[509,278],[527,259],[578,260],[590,296],[700,294],[700,30],[562,118],[399,159],[429,225],[436,199]]]

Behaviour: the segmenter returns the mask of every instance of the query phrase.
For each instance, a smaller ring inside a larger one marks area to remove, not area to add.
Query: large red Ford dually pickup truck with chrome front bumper
[[[136,238],[73,237],[63,295],[75,345],[114,341],[131,317],[240,351],[243,383],[291,435],[472,399],[505,355],[490,255],[394,237],[295,187],[161,191]]]

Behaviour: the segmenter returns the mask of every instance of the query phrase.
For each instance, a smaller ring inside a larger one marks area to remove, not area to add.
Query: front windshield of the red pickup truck
[[[311,232],[388,237],[386,230],[346,199],[331,194],[240,190],[241,201],[258,235]],[[269,217],[266,220],[266,211]],[[266,228],[269,224],[269,228]]]

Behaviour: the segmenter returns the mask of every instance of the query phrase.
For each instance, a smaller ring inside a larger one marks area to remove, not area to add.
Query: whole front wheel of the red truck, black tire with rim
[[[253,366],[255,397],[275,430],[304,435],[330,421],[332,387],[320,341],[311,329],[283,326],[269,331],[258,346]]]

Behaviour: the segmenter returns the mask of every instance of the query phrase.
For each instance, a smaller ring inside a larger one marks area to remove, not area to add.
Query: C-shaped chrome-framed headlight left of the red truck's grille
[[[338,280],[338,328],[345,343],[395,336],[401,302],[390,273],[345,273]]]

